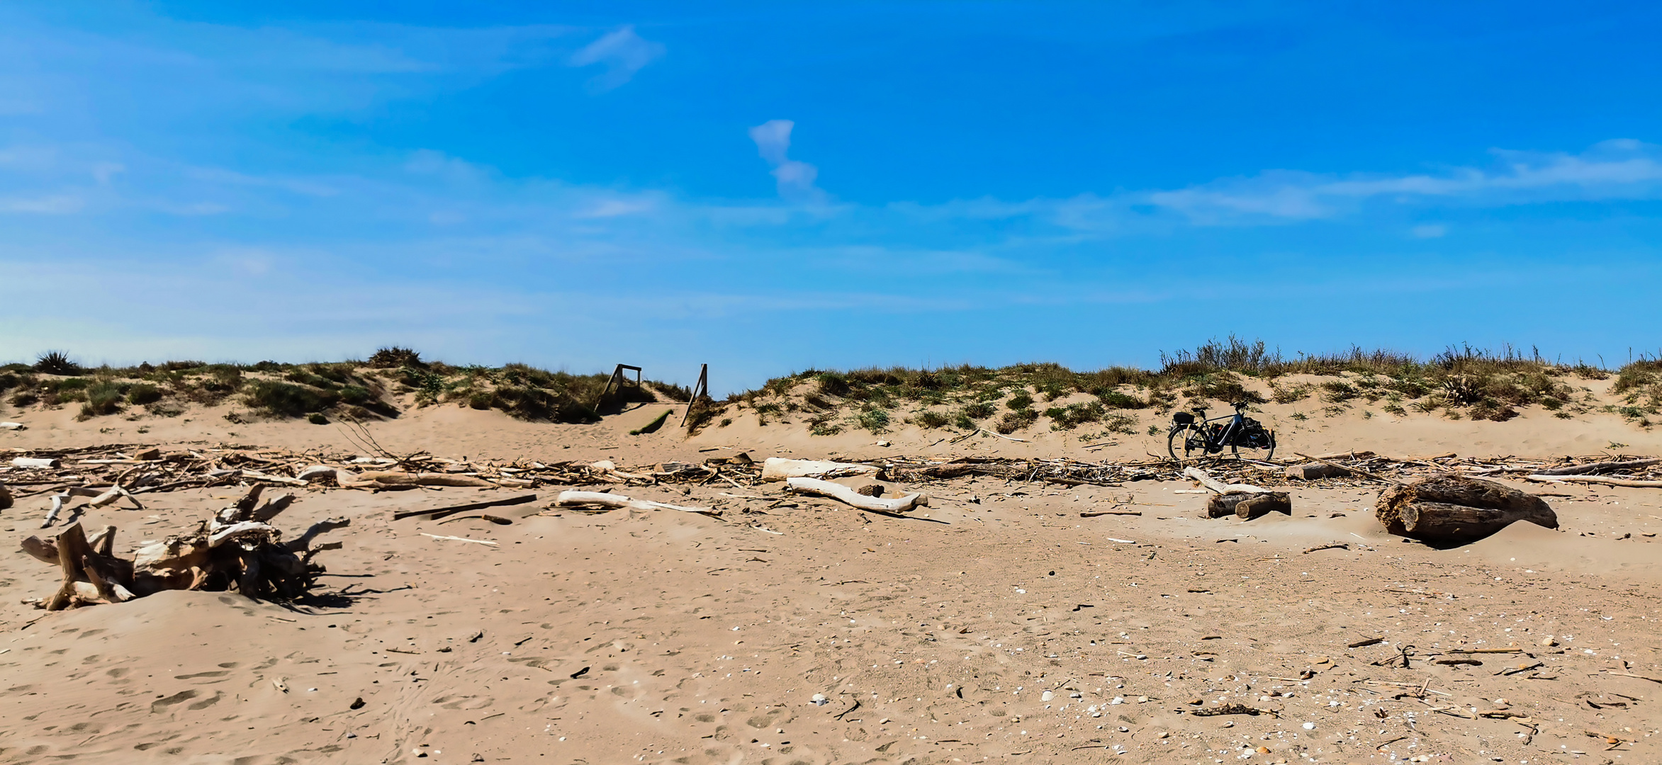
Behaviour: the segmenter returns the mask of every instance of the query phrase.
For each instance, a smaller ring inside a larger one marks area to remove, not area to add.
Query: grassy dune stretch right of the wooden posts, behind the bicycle
[[[806,370],[735,393],[715,405],[711,417],[801,407],[814,412],[811,431],[826,435],[848,426],[878,431],[871,426],[878,420],[874,412],[894,413],[891,420],[921,428],[1014,433],[1044,418],[1050,430],[1107,423],[1112,431],[1127,431],[1135,430],[1137,420],[1125,410],[1152,408],[1163,415],[1178,407],[1315,398],[1326,417],[1378,405],[1398,417],[1413,410],[1504,421],[1527,407],[1559,417],[1584,413],[1589,397],[1577,383],[1609,375],[1601,367],[1554,362],[1512,347],[1497,352],[1449,347],[1429,358],[1360,347],[1286,357],[1261,340],[1230,337],[1162,353],[1160,367],[1152,370],[1075,372],[1057,363]],[[1634,362],[1617,375],[1617,385],[1629,392],[1627,407],[1617,413],[1639,421],[1634,412],[1662,412],[1662,365]]]

